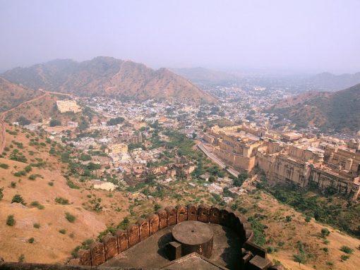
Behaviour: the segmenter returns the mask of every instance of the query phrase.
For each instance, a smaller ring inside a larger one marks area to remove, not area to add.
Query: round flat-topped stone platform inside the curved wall
[[[207,223],[181,222],[172,229],[172,238],[181,243],[181,256],[197,252],[207,258],[211,257],[214,233]]]

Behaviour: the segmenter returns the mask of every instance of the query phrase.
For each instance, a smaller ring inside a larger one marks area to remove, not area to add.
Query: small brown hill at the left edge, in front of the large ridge
[[[0,78],[0,112],[7,111],[41,94],[42,92],[38,90],[35,91],[23,85],[18,85],[4,78]]]

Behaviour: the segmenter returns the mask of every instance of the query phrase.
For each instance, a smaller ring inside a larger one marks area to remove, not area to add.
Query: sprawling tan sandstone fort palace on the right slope
[[[210,128],[203,139],[241,171],[263,170],[268,180],[316,185],[356,200],[360,193],[360,140],[270,133],[251,125]]]

